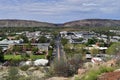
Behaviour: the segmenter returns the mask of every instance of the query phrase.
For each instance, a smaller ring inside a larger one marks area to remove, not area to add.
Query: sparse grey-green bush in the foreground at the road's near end
[[[49,70],[49,76],[71,76],[73,72],[70,69],[70,65],[65,59],[55,59],[54,63],[51,65]]]

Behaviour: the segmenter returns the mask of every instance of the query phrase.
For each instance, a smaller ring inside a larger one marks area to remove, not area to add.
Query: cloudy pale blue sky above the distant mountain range
[[[64,23],[120,19],[120,0],[0,0],[0,19]]]

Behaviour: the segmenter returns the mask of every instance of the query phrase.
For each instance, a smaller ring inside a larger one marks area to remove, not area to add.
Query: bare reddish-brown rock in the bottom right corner
[[[120,71],[105,73],[98,80],[120,80]]]

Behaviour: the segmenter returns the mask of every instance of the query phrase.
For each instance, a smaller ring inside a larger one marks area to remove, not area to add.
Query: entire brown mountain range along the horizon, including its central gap
[[[112,19],[84,19],[66,22],[63,24],[54,24],[32,20],[1,19],[0,27],[116,27],[120,26],[120,20]]]

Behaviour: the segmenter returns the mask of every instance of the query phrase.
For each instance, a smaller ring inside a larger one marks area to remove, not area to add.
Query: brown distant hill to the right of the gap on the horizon
[[[74,26],[87,26],[87,27],[114,27],[120,26],[120,20],[111,20],[111,19],[85,19],[66,22],[63,24],[65,27],[74,27]]]

